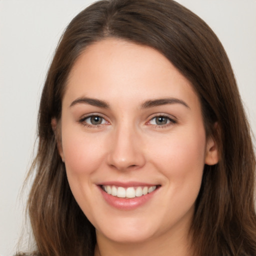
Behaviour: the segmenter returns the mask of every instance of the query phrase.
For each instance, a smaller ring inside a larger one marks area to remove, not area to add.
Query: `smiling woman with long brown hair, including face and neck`
[[[178,3],[80,12],[49,68],[38,136],[34,254],[256,254],[255,156],[234,75]]]

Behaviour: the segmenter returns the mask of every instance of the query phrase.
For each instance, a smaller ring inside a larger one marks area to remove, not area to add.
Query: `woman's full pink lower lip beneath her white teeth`
[[[133,198],[122,198],[122,197],[117,197],[117,196],[108,194],[100,186],[98,187],[103,198],[106,200],[106,202],[111,206],[121,210],[132,210],[145,204],[152,198],[152,196],[154,196],[155,192],[158,190],[158,187],[157,187],[154,191],[147,193],[145,195],[141,195]]]

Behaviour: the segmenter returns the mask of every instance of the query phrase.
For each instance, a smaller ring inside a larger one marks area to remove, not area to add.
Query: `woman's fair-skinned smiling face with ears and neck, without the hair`
[[[194,202],[217,149],[193,87],[162,54],[114,38],[88,46],[69,74],[60,126],[94,255],[192,254]]]

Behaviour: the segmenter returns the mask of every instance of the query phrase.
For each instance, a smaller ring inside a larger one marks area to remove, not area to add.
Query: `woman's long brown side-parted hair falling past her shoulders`
[[[43,87],[38,150],[28,199],[38,255],[93,255],[95,231],[69,189],[51,119],[65,83],[89,44],[122,38],[157,49],[192,83],[219,162],[205,165],[191,224],[195,255],[256,255],[255,155],[229,60],[216,35],[173,0],[102,0],[81,11],[57,46]]]

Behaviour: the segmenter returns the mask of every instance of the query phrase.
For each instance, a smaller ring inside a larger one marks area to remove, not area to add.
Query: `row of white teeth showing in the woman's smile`
[[[137,186],[137,187],[127,187],[124,188],[122,186],[110,186],[110,185],[103,185],[103,190],[107,192],[108,194],[111,194],[113,196],[122,197],[122,198],[134,198],[139,197],[141,195],[145,195],[147,193],[151,193],[156,189],[156,186]]]

